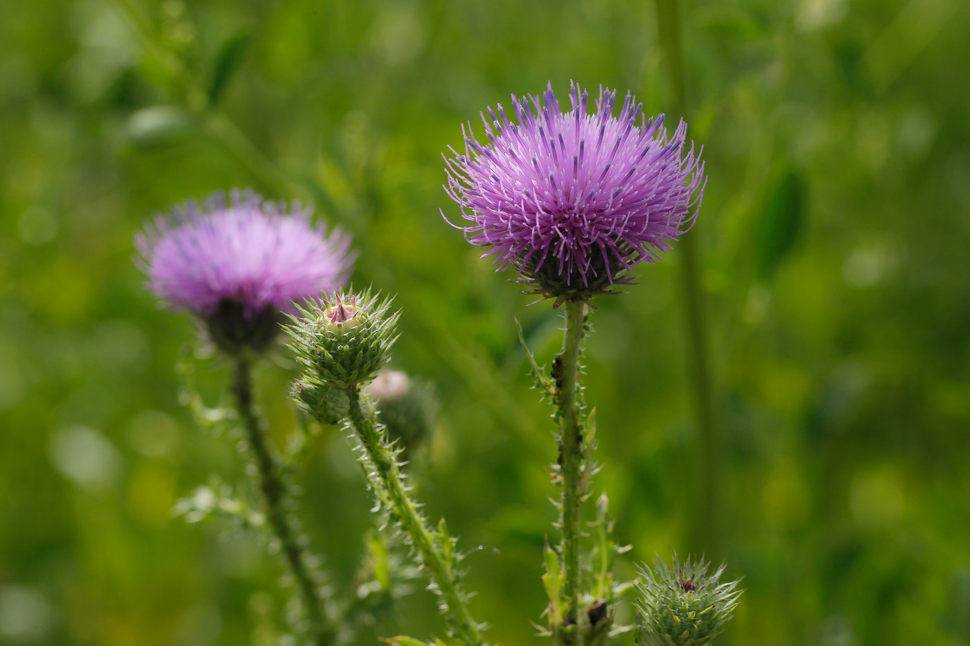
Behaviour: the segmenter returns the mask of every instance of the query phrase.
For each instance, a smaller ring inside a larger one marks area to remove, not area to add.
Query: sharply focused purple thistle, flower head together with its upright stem
[[[597,644],[610,633],[619,590],[604,589],[601,575],[591,587],[581,555],[582,508],[596,470],[582,384],[590,301],[630,284],[636,264],[659,260],[691,227],[705,179],[700,151],[692,144],[685,152],[684,121],[668,136],[663,114],[647,119],[630,94],[619,116],[615,91],[600,88],[594,111],[574,83],[569,99],[564,113],[550,83],[542,97],[512,96],[514,122],[501,105],[489,108],[481,114],[487,144],[463,126],[464,152],[445,156],[445,190],[461,207],[466,239],[489,247],[483,256],[494,256],[500,270],[514,268],[527,294],[564,306],[563,349],[551,370],[527,348],[558,427],[552,472],[561,540],[558,553],[546,553],[547,633],[557,644]]]

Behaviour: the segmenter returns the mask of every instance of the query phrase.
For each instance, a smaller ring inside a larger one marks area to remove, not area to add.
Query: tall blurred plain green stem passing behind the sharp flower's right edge
[[[661,48],[673,89],[674,112],[687,112],[687,72],[679,0],[657,0],[657,22]],[[704,294],[700,284],[700,249],[696,228],[680,241],[684,315],[687,319],[691,387],[694,391],[697,437],[698,518],[695,522],[695,549],[709,556],[718,553],[717,426],[714,415],[714,388],[711,379],[710,351]]]

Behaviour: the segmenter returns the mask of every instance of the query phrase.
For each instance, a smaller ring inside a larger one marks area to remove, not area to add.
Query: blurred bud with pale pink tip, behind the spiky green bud
[[[435,428],[437,402],[431,384],[412,379],[402,371],[383,370],[371,384],[377,416],[387,435],[397,440],[404,459]]]

